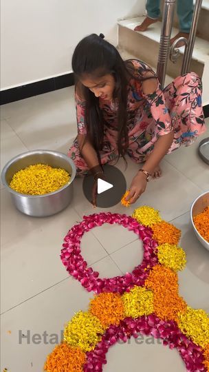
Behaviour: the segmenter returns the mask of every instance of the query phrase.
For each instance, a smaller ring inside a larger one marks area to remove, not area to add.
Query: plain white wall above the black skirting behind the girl
[[[71,71],[78,41],[93,32],[118,43],[117,19],[145,0],[1,0],[1,89]]]

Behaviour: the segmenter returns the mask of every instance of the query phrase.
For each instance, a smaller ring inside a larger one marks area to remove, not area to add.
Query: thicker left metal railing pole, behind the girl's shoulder
[[[175,0],[165,0],[157,62],[157,76],[162,87],[164,87],[166,77],[166,68],[170,51],[170,34],[173,25],[174,10]]]

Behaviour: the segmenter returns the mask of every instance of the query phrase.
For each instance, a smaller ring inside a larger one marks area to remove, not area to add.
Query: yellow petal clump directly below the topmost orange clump
[[[165,243],[157,247],[159,263],[174,271],[183,270],[186,265],[184,250],[176,245]]]

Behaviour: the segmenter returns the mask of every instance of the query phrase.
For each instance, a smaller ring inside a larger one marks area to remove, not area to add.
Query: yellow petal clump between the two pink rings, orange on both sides
[[[149,315],[154,311],[153,292],[144,287],[133,287],[122,295],[125,316],[137,318]]]

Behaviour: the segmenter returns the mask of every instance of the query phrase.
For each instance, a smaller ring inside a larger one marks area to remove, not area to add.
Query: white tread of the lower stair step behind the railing
[[[132,19],[124,19],[122,21],[118,21],[118,24],[122,27],[128,28],[129,30],[134,31],[134,28],[136,25],[139,25],[144,21],[145,17],[137,17]],[[137,34],[142,34],[143,37],[147,37],[148,39],[151,39],[153,41],[156,41],[159,43],[160,34],[161,34],[161,27],[162,22],[153,23],[153,25],[148,28],[148,30],[144,32],[137,32]],[[177,28],[173,28],[171,37],[174,37],[179,30]],[[179,48],[179,52],[181,54],[184,54],[184,47]],[[209,55],[209,42],[206,40],[203,40],[199,37],[196,37],[195,39],[195,48],[193,50],[192,59],[195,61],[199,61],[201,63],[204,63],[206,56]]]

